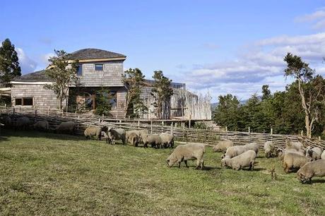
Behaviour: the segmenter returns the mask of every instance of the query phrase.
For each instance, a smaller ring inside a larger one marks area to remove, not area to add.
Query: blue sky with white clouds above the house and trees
[[[291,83],[283,57],[302,56],[325,76],[325,1],[1,0],[0,41],[15,44],[22,73],[45,68],[54,49],[126,55],[124,70],[161,70],[198,94],[241,100]]]

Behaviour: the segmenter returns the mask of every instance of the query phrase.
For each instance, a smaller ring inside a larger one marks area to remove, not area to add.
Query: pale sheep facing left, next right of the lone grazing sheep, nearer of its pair
[[[249,167],[249,170],[253,170],[255,158],[256,152],[254,150],[248,150],[241,155],[237,155],[236,157],[223,158],[223,160],[221,160],[221,167],[231,167],[235,170]]]

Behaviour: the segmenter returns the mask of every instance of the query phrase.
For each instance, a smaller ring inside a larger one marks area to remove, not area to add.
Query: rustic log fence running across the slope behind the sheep
[[[1,107],[0,107],[1,108]],[[243,145],[247,143],[256,142],[259,143],[260,148],[263,147],[266,141],[273,141],[278,147],[285,145],[285,138],[290,138],[293,141],[300,141],[305,146],[320,147],[325,149],[325,142],[323,140],[310,140],[301,136],[294,135],[282,135],[271,133],[249,133],[238,131],[212,131],[202,130],[195,128],[186,128],[184,124],[182,127],[176,127],[173,122],[170,126],[161,125],[162,121],[150,120],[129,120],[129,119],[108,119],[105,117],[94,118],[93,116],[85,116],[79,114],[66,114],[58,112],[45,112],[45,110],[32,109],[0,109],[1,116],[9,115],[13,119],[19,116],[28,116],[32,122],[47,120],[49,121],[49,127],[54,130],[61,122],[74,121],[76,123],[76,135],[83,135],[83,131],[90,125],[96,126],[112,126],[117,128],[124,128],[126,130],[131,129],[146,129],[149,133],[162,133],[170,132],[175,135],[175,138],[179,141],[185,142],[197,142],[205,143],[207,145],[215,145],[218,140],[229,139],[232,140],[235,145]]]

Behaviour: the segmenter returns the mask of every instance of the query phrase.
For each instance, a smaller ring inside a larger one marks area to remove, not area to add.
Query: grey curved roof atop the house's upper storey
[[[110,52],[103,49],[80,49],[76,52],[71,53],[69,59],[110,59],[110,58],[126,58],[123,54],[116,52]]]

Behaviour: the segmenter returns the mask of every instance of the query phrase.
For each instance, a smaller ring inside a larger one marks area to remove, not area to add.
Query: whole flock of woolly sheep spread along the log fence
[[[15,129],[28,129],[30,119],[26,116],[12,120],[9,116],[2,119],[5,126],[11,126]],[[49,123],[46,120],[37,121],[32,124],[32,128],[39,131],[49,131]],[[71,133],[75,130],[73,121],[62,122],[55,128],[57,133]],[[102,136],[106,139],[106,143],[115,144],[115,140],[121,140],[123,144],[131,143],[134,147],[143,144],[144,148],[151,145],[152,148],[173,148],[175,137],[170,133],[150,134],[147,130],[131,130],[125,131],[122,128],[112,128],[107,126],[88,126],[84,131],[85,138],[96,138],[100,140]],[[249,143],[246,145],[234,145],[231,140],[220,140],[213,147],[214,152],[223,152],[221,157],[221,167],[230,167],[240,170],[248,167],[249,170],[254,169],[256,155],[259,151],[257,143]],[[279,157],[283,164],[285,172],[297,170],[297,178],[302,183],[311,183],[313,176],[325,176],[325,150],[319,147],[304,148],[302,143],[293,142],[290,138],[285,139],[285,148],[276,148],[272,141],[264,144],[264,152],[267,158]],[[178,145],[172,154],[167,158],[167,166],[172,167],[178,162],[184,162],[186,167],[188,160],[196,160],[196,169],[203,169],[203,155],[205,153],[205,145],[201,143],[189,143]]]

